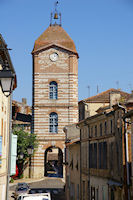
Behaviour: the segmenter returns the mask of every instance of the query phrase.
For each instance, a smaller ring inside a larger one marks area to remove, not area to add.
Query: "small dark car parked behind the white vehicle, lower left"
[[[27,183],[18,183],[14,193],[15,199],[17,199],[17,197],[21,194],[27,194],[29,190],[30,188]]]

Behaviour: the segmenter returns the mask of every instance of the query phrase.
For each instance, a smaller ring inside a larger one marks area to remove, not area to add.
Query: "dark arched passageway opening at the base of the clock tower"
[[[48,147],[44,153],[44,176],[63,177],[63,152],[59,147]]]

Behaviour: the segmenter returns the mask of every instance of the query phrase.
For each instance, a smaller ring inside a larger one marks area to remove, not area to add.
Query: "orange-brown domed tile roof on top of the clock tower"
[[[59,25],[49,26],[46,31],[43,32],[43,34],[35,41],[32,53],[47,48],[50,45],[57,45],[77,54],[73,40]]]

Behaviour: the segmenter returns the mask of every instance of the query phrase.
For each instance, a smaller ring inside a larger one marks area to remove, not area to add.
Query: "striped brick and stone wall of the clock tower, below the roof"
[[[56,62],[50,54],[56,52]],[[34,133],[39,148],[32,159],[32,176],[44,176],[44,153],[50,146],[56,146],[64,153],[65,134],[63,127],[78,122],[78,61],[77,56],[61,48],[49,48],[33,56],[34,60]],[[58,99],[49,99],[49,84],[58,84]],[[58,114],[58,133],[49,131],[49,114]]]

